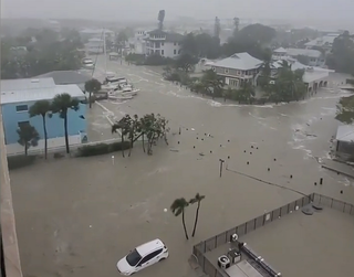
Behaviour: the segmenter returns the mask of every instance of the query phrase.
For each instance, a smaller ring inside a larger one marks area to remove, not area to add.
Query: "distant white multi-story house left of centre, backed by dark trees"
[[[179,33],[169,33],[162,30],[154,30],[145,39],[146,55],[162,55],[164,57],[177,57],[181,51],[184,35]]]

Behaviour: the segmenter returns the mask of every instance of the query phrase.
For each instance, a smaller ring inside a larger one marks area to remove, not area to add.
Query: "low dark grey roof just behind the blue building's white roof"
[[[53,78],[55,85],[77,85],[84,92],[85,83],[92,79],[92,76],[81,71],[53,71],[34,78]]]

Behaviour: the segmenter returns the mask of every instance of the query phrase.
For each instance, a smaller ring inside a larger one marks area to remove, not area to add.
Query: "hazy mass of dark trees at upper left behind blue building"
[[[65,36],[63,36],[65,35]],[[1,78],[30,78],[52,71],[81,68],[84,53],[80,34],[66,30],[27,30],[20,36],[1,39]]]

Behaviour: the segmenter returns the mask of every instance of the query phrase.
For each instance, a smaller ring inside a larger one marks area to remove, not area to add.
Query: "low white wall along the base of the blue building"
[[[54,138],[48,139],[48,152],[59,151],[61,149],[65,149],[65,138]],[[70,146],[80,146],[81,145],[81,136],[70,136],[69,137],[69,145]],[[30,147],[29,153],[44,153],[44,139],[41,139],[38,142],[37,147]],[[24,155],[24,147],[19,143],[7,145],[7,155],[8,156],[15,156],[15,155]]]

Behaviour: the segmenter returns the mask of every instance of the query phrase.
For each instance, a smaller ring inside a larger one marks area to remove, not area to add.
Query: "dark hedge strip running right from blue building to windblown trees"
[[[90,156],[97,156],[104,153],[111,153],[115,151],[122,151],[131,148],[129,141],[122,141],[114,142],[114,143],[100,143],[94,146],[83,146],[79,148],[79,157],[90,157]]]

